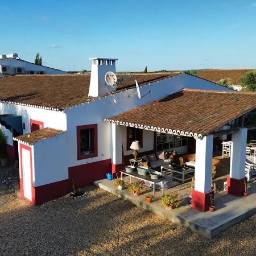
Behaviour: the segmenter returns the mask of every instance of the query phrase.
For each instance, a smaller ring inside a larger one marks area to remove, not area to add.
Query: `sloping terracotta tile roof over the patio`
[[[104,121],[203,137],[255,108],[256,93],[184,89]]]

